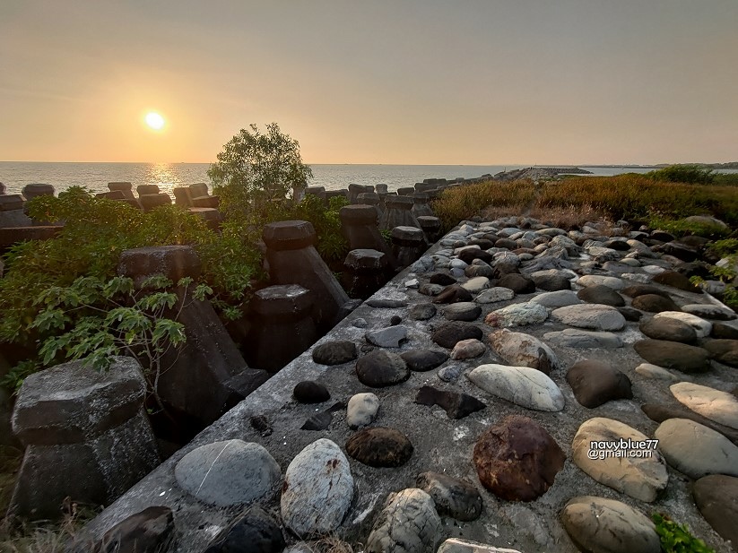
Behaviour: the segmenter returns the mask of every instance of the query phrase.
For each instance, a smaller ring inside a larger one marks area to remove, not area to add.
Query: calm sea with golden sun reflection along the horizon
[[[56,193],[69,186],[85,186],[91,192],[107,192],[108,183],[126,181],[138,185],[157,185],[161,192],[171,194],[172,188],[194,183],[207,183],[209,163],[74,163],[0,161],[0,183],[6,194],[19,194],[23,186],[44,183],[53,185]],[[369,164],[315,164],[310,165],[313,177],[308,186],[325,186],[339,190],[358,185],[386,184],[395,191],[413,186],[425,178],[473,178],[495,175],[500,171],[534,167],[532,165],[369,165]],[[568,166],[564,166],[568,167]],[[598,176],[621,173],[646,173],[650,167],[578,166]]]

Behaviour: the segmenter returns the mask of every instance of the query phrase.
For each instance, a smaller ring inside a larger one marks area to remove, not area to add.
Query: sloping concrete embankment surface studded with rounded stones
[[[655,235],[466,221],[87,537],[658,553],[657,511],[735,550],[738,324]]]

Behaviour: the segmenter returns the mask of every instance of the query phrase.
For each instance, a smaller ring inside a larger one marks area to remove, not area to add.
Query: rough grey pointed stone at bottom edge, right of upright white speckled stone
[[[440,531],[433,499],[421,489],[404,489],[389,497],[369,534],[366,553],[435,551]]]

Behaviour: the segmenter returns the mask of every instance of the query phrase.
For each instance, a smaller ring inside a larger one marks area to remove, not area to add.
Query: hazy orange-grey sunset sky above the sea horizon
[[[0,0],[0,160],[270,122],[308,163],[738,160],[738,0]]]

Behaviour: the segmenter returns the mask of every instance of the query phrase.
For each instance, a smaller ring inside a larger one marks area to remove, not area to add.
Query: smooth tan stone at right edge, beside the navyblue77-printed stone
[[[708,474],[738,476],[738,446],[728,438],[689,419],[667,419],[654,437],[666,462],[692,479]]]

